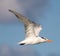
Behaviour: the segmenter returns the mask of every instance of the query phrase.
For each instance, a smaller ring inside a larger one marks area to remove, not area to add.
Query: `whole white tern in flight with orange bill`
[[[23,41],[18,42],[19,45],[28,45],[28,44],[40,44],[43,42],[52,42],[45,37],[40,37],[39,32],[42,30],[42,26],[29,20],[25,16],[21,15],[20,13],[9,10],[12,12],[19,20],[24,23],[25,26],[25,39]]]

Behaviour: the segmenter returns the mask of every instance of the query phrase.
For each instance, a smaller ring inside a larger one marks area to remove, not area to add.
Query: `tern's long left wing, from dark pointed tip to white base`
[[[24,17],[23,15],[21,15],[16,11],[13,10],[9,10],[9,11],[12,12],[19,20],[21,20],[24,23],[26,37],[34,37],[35,34],[33,30],[32,21],[30,21],[29,19],[27,19],[26,17]]]

